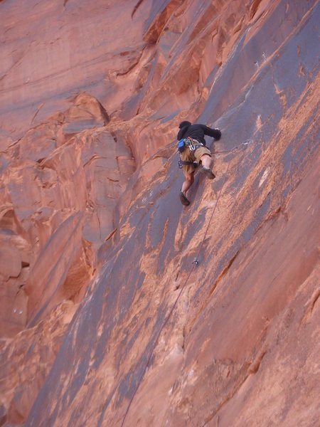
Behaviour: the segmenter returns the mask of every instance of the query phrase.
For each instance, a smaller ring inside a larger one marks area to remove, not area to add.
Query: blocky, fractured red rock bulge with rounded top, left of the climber
[[[92,278],[97,249],[115,228],[117,197],[134,170],[129,147],[105,130],[108,120],[100,102],[81,94],[4,152],[4,336],[11,335],[6,316],[32,326],[57,302],[78,301]]]

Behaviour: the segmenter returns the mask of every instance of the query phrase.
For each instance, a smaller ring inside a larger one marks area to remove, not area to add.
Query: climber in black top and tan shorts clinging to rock
[[[211,153],[206,147],[205,135],[220,139],[221,132],[218,129],[211,129],[206,125],[191,122],[181,122],[177,135],[178,152],[181,160],[179,164],[182,166],[183,174],[186,176],[186,181],[183,182],[179,196],[181,203],[185,206],[190,204],[186,192],[191,187],[194,181],[194,172],[199,165],[200,171],[208,176],[209,179],[214,179],[215,174],[211,170]]]

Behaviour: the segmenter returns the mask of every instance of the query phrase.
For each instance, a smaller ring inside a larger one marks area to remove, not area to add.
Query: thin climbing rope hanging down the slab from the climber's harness
[[[232,149],[228,149],[228,150],[220,151],[220,152],[215,152],[215,153],[213,153],[213,154],[232,153],[232,152],[235,152],[235,150],[239,149],[239,147],[241,147],[242,145],[247,145],[247,144],[249,144],[250,142],[252,142],[252,140],[251,140],[251,139],[245,139],[245,141],[244,141],[244,142],[242,142],[242,143],[241,143],[241,144],[239,144],[238,146],[233,147]],[[159,340],[159,337],[160,337],[160,335],[161,335],[161,332],[164,330],[164,327],[166,326],[166,324],[168,323],[168,320],[170,319],[170,317],[171,317],[172,313],[174,312],[174,309],[176,308],[176,305],[177,305],[177,303],[178,303],[178,300],[179,300],[179,298],[181,297],[181,294],[182,294],[182,292],[183,292],[184,288],[186,288],[186,284],[188,283],[188,280],[189,280],[189,278],[190,278],[191,274],[193,273],[194,268],[196,268],[196,265],[198,265],[198,264],[199,264],[199,262],[200,262],[200,261],[199,261],[199,255],[200,255],[200,253],[201,253],[201,249],[202,249],[202,247],[203,247],[203,243],[204,243],[204,241],[206,240],[206,236],[207,236],[207,233],[208,233],[208,229],[209,229],[209,226],[210,226],[210,222],[212,221],[213,215],[215,214],[215,209],[216,209],[216,208],[217,208],[217,206],[218,206],[218,202],[219,202],[220,196],[221,196],[222,191],[223,191],[223,186],[225,185],[225,179],[226,179],[226,176],[227,176],[228,171],[229,171],[229,167],[230,167],[231,159],[232,159],[232,157],[230,157],[230,159],[229,159],[229,161],[228,161],[228,167],[227,167],[227,169],[225,170],[225,174],[224,174],[224,176],[223,176],[223,184],[222,184],[222,186],[221,186],[221,188],[220,188],[220,191],[219,191],[219,194],[218,194],[217,200],[215,201],[215,206],[214,206],[214,208],[213,208],[212,214],[210,215],[210,218],[209,218],[209,221],[208,221],[208,226],[207,226],[206,231],[205,231],[205,233],[204,233],[204,235],[203,235],[203,238],[202,238],[202,241],[201,241],[201,245],[200,245],[200,247],[199,247],[199,249],[198,249],[198,253],[197,253],[197,255],[196,255],[196,258],[193,260],[192,267],[191,267],[191,269],[190,269],[190,271],[189,271],[189,273],[188,273],[188,275],[187,275],[187,277],[186,277],[186,280],[184,281],[183,285],[181,286],[180,291],[178,292],[178,296],[176,297],[176,300],[174,301],[174,304],[172,305],[171,310],[169,311],[169,315],[167,315],[167,316],[166,316],[166,319],[164,320],[164,323],[161,325],[161,327],[160,327],[160,329],[159,329],[158,334],[156,334],[156,339],[154,340],[154,344],[153,344],[153,346],[151,347],[151,351],[150,351],[149,357],[148,357],[148,359],[147,359],[147,361],[146,361],[146,364],[144,365],[144,370],[142,371],[142,374],[141,374],[141,376],[140,376],[140,378],[139,378],[138,384],[137,384],[136,388],[134,389],[134,393],[132,394],[132,398],[131,398],[131,399],[130,399],[130,401],[129,401],[129,405],[127,406],[127,411],[125,411],[125,413],[124,413],[124,417],[123,417],[123,420],[122,420],[122,423],[121,423],[121,427],[123,427],[123,426],[124,426],[124,421],[125,421],[125,420],[126,420],[126,418],[127,418],[127,414],[128,414],[128,412],[129,412],[129,408],[130,408],[130,406],[131,406],[131,404],[132,404],[132,401],[133,401],[133,399],[134,399],[134,396],[137,394],[137,391],[138,391],[139,386],[140,386],[140,384],[141,384],[141,382],[142,382],[142,379],[143,379],[143,377],[144,377],[144,374],[146,373],[146,368],[147,368],[147,367],[148,367],[148,365],[149,365],[149,362],[150,362],[150,359],[151,359],[152,354],[154,354],[154,349],[156,348],[156,344],[158,344],[158,340]]]

